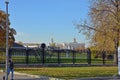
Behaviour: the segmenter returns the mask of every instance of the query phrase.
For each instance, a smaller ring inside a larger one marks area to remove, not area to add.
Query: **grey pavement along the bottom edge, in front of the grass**
[[[0,72],[0,80],[3,80],[2,72]],[[9,76],[9,80],[10,80],[10,76]],[[14,80],[63,80],[63,79],[15,73]],[[71,80],[120,80],[120,77],[113,76],[113,77],[78,78],[78,79],[71,79]]]

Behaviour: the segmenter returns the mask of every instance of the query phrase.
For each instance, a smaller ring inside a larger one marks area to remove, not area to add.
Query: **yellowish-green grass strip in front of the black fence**
[[[114,67],[43,67],[43,68],[16,68],[15,71],[49,76],[63,79],[82,77],[103,77],[117,75],[117,66]]]

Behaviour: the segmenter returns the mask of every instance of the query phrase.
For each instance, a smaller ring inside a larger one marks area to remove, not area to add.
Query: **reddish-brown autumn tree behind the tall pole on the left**
[[[9,21],[9,46],[15,41],[14,35],[16,34],[15,29],[10,28]],[[0,10],[0,47],[5,47],[6,42],[6,14]]]

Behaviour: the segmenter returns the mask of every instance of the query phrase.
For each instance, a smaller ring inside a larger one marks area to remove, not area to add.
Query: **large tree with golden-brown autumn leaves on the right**
[[[116,63],[120,37],[120,0],[91,0],[90,25],[76,24],[100,50],[115,50]]]

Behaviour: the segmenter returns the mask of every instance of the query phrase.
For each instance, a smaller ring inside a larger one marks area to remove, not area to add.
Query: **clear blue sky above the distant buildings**
[[[5,0],[0,9],[5,11]],[[87,19],[89,0],[9,0],[11,27],[17,31],[16,42],[85,42],[73,21]]]

